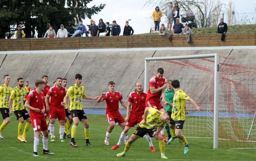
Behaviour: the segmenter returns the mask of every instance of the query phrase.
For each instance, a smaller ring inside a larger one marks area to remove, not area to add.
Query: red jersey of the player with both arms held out
[[[102,99],[106,100],[106,113],[119,113],[119,100],[123,99],[120,92],[115,91],[115,94],[113,95],[110,91],[108,91]]]

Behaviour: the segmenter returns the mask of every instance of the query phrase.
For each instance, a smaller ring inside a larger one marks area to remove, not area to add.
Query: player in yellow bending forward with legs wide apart
[[[149,114],[148,114],[149,112]],[[155,137],[159,141],[161,158],[167,159],[164,155],[164,140],[160,131],[165,127],[171,117],[171,112],[161,112],[152,107],[146,107],[143,120],[125,145],[124,152],[116,154],[117,157],[124,157],[135,140],[148,133],[150,137]]]

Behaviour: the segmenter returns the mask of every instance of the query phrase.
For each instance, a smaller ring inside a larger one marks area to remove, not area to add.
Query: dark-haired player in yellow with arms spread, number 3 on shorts
[[[76,81],[76,84],[68,88],[66,96],[63,102],[61,103],[61,105],[64,106],[68,102],[68,99],[70,99],[69,110],[71,113],[72,120],[74,122],[71,128],[70,145],[77,147],[75,142],[75,135],[76,135],[76,128],[80,120],[84,125],[84,135],[86,139],[86,145],[92,146],[91,143],[89,142],[89,123],[88,123],[86,114],[84,113],[84,110],[83,110],[82,98],[97,100],[100,96],[89,97],[85,95],[85,88],[84,86],[81,86],[81,83],[82,83],[81,74],[76,74],[75,81]]]

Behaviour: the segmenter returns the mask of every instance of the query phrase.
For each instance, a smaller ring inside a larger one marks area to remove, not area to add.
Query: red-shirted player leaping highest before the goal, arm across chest
[[[162,101],[165,103],[165,88],[167,87],[167,80],[163,77],[164,69],[158,68],[156,72],[156,76],[152,77],[149,81],[148,95],[146,98],[146,107],[153,107],[161,112],[164,111],[164,107],[160,103],[161,95]],[[161,131],[161,134],[164,138],[164,142],[168,142],[168,140],[164,136],[164,128]]]

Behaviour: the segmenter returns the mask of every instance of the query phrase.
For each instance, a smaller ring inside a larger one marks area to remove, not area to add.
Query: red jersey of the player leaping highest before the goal
[[[162,91],[159,91],[158,93],[155,93],[155,94],[151,94],[150,87],[155,87],[155,89],[157,89],[162,87],[166,83],[167,83],[167,80],[164,77],[161,80],[159,80],[156,76],[151,78],[149,81],[148,95],[147,95],[146,101],[153,100],[153,101],[160,102]]]

